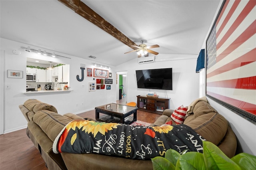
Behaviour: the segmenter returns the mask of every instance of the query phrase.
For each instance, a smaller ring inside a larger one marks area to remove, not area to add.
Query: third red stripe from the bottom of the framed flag
[[[214,75],[218,75],[220,73],[224,73],[226,71],[230,71],[232,69],[236,69],[243,65],[252,63],[252,62],[256,61],[255,56],[256,56],[256,48],[252,49],[251,51],[242,55],[241,57],[231,61],[230,63],[227,63],[227,64],[223,65],[222,67],[212,71],[211,73],[208,73],[207,78],[212,77]]]

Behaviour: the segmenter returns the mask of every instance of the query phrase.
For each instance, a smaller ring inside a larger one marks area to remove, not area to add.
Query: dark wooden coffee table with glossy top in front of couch
[[[137,107],[109,103],[95,107],[95,117],[101,122],[130,124],[137,121],[137,109]]]

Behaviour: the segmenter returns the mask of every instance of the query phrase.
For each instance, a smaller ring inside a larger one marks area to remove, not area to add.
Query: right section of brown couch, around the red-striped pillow
[[[170,117],[174,110],[166,109],[163,114],[150,126],[161,126],[172,121]],[[188,106],[184,123],[207,141],[214,143],[229,158],[236,153],[237,140],[233,130],[228,125],[228,121],[220,115],[207,101],[206,97],[196,99]]]

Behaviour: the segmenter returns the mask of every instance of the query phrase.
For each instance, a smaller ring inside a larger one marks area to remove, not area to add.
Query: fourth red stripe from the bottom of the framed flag
[[[238,37],[228,48],[226,48],[218,57],[216,58],[216,61],[222,60],[224,57],[226,57],[228,54],[230,54],[234,49],[239,47],[242,43],[244,43],[246,40],[248,40],[250,37],[252,37],[256,33],[256,20],[248,27],[246,30]],[[218,49],[217,49],[218,50]]]

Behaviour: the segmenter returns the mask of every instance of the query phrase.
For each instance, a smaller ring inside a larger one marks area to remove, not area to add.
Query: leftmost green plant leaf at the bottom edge
[[[156,156],[151,159],[154,170],[175,170],[174,164],[168,161],[166,158]]]

